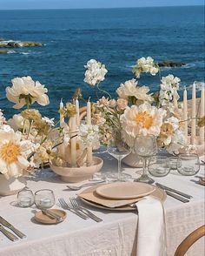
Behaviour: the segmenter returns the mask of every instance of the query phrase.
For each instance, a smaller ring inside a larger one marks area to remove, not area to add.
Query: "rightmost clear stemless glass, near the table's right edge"
[[[177,171],[182,175],[192,176],[200,170],[199,157],[196,154],[179,154],[177,159]]]

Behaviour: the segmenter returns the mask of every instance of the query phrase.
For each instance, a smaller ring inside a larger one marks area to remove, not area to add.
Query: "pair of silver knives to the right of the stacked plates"
[[[193,198],[192,196],[190,196],[184,192],[175,190],[169,186],[162,185],[159,183],[155,183],[155,185],[159,188],[162,188],[167,193],[167,195],[169,195],[169,197],[177,199],[177,200],[181,201],[182,203],[188,203],[189,199]]]

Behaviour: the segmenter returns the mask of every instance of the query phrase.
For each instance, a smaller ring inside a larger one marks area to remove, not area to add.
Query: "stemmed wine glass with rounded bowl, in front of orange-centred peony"
[[[143,158],[143,172],[142,176],[135,181],[152,184],[155,182],[148,176],[148,161],[149,158],[154,156],[157,152],[156,138],[152,134],[137,135],[135,141],[135,152]]]

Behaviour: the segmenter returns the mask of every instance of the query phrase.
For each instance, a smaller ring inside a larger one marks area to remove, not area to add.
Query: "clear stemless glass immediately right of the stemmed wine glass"
[[[170,172],[169,158],[165,156],[155,156],[149,158],[148,171],[155,177],[164,177]]]

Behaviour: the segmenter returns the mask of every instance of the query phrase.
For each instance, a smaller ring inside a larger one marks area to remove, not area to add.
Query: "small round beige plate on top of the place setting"
[[[108,199],[137,199],[154,191],[155,186],[141,182],[114,182],[96,188],[96,193]]]

